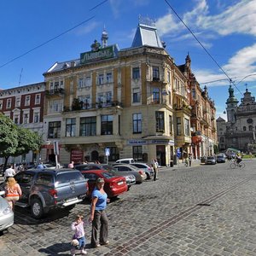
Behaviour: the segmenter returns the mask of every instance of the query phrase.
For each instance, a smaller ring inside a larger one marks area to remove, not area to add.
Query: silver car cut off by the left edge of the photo
[[[7,230],[12,224],[14,224],[14,212],[9,203],[2,197],[4,191],[0,191],[0,231]]]

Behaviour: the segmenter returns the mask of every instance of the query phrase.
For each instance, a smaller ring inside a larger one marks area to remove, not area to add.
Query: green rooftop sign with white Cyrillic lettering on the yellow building
[[[113,58],[113,45],[108,46],[97,51],[87,51],[80,54],[80,63],[84,64],[90,61],[99,61],[104,59]]]

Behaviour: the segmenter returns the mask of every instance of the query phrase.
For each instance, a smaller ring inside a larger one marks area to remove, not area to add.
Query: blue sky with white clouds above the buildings
[[[205,85],[202,83],[226,79],[207,84],[218,117],[224,112],[230,82],[177,19],[168,2],[234,81],[237,99],[241,99],[245,84],[256,96],[256,0],[102,2],[1,1],[0,88],[44,81],[43,73],[55,61],[77,59],[81,52],[90,50],[95,39],[100,41],[104,26],[108,32],[108,44],[118,44],[120,49],[130,47],[138,17],[142,15],[156,21],[160,38],[166,42],[166,50],[177,65],[184,63],[189,52],[193,73],[201,87]],[[102,4],[96,7],[99,3]],[[77,26],[85,20],[88,21]],[[67,32],[74,26],[77,27]],[[67,33],[61,35],[62,32]],[[44,45],[38,47],[41,44]],[[17,58],[20,55],[23,56]]]

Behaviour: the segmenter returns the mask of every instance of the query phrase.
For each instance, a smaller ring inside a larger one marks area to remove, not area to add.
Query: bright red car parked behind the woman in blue
[[[114,176],[110,172],[96,170],[96,171],[80,171],[87,179],[88,192],[87,195],[90,197],[93,189],[96,185],[96,179],[98,177],[104,178],[104,190],[106,191],[108,198],[117,197],[125,193],[128,189],[125,177]]]

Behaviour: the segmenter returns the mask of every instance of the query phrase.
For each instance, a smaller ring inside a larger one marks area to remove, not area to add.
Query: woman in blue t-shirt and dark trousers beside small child
[[[101,245],[108,245],[108,217],[105,212],[107,207],[108,195],[104,191],[104,179],[102,177],[97,178],[96,187],[91,194],[90,205],[90,218],[92,222],[91,230],[91,247],[100,247]],[[99,243],[97,242],[98,234]]]

